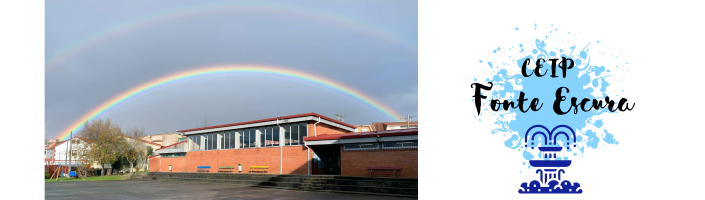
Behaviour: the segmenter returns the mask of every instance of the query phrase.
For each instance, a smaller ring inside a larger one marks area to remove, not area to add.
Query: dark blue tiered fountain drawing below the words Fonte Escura
[[[576,147],[575,141],[575,131],[570,126],[558,125],[550,131],[543,125],[531,126],[524,135],[524,147],[538,147],[540,151],[537,158],[529,161],[532,167],[538,168],[536,174],[539,180],[522,183],[519,193],[583,193],[578,182],[571,183],[562,179],[565,169],[560,168],[567,168],[572,161],[557,156],[563,148],[570,149],[571,145]]]

